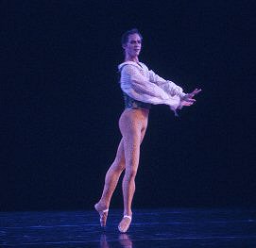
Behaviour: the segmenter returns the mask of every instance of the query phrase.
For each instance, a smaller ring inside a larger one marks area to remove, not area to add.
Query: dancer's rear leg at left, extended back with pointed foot
[[[104,190],[102,196],[97,204],[94,205],[95,209],[100,215],[100,224],[105,226],[108,218],[108,210],[111,203],[111,196],[116,188],[118,179],[125,169],[125,153],[124,153],[124,141],[120,141],[116,157],[111,164],[105,177]]]

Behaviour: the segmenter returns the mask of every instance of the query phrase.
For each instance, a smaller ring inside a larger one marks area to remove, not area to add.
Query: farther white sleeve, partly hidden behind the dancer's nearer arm
[[[185,95],[182,88],[176,85],[174,82],[163,79],[158,74],[155,74],[152,70],[150,70],[148,73],[149,81],[161,87],[163,91],[167,91],[171,95],[179,95],[180,97]]]

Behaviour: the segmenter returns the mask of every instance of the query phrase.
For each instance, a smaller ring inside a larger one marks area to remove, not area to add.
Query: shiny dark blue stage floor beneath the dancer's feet
[[[256,247],[256,209],[133,209],[127,234],[121,216],[102,229],[93,210],[1,212],[0,247]]]

